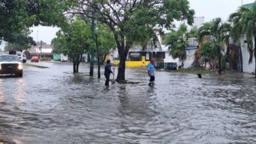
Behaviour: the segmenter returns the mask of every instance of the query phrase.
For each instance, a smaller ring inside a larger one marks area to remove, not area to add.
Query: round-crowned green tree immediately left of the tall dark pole
[[[63,51],[73,60],[73,71],[78,73],[79,64],[85,50],[93,43],[91,41],[91,28],[83,20],[75,20],[62,27],[53,40],[55,52]]]

